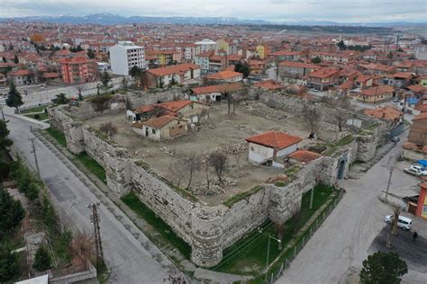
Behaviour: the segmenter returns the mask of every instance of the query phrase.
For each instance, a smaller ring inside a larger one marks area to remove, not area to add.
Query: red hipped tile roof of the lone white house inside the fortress
[[[268,146],[275,149],[283,149],[292,146],[300,141],[302,138],[288,135],[279,131],[267,131],[259,135],[252,136],[245,139],[248,142]]]

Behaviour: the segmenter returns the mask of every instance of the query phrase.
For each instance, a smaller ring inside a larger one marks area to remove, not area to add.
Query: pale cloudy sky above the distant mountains
[[[0,17],[114,13],[268,21],[425,22],[427,0],[0,0]]]

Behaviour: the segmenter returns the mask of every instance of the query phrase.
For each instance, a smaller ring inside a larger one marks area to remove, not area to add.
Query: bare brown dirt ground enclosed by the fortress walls
[[[230,145],[245,145],[245,138],[269,129],[282,130],[290,135],[304,138],[300,146],[312,143],[307,139],[309,131],[302,117],[268,108],[260,102],[242,102],[235,114],[230,116],[227,113],[226,102],[213,104],[208,121],[203,123],[201,130],[189,129],[185,136],[162,142],[151,141],[134,133],[131,129],[132,123],[126,119],[124,111],[120,114],[104,115],[86,120],[86,124],[94,129],[99,129],[101,124],[108,121],[111,121],[118,130],[114,140],[119,145],[130,149],[135,159],[150,164],[154,172],[175,185],[179,182],[179,186],[183,188],[187,185],[189,174],[182,161],[183,157],[191,153],[204,156],[203,154],[209,153],[215,148],[224,149],[225,146]],[[238,148],[238,154],[228,155],[228,169],[223,174],[226,184],[222,190],[205,196],[198,195],[198,198],[206,204],[221,203],[232,195],[248,191],[265,182],[268,177],[283,172],[283,170],[273,167],[250,164],[247,146],[239,145]],[[204,159],[202,158],[202,160]],[[208,175],[209,179],[214,182],[216,175],[212,169],[208,171]],[[190,188],[196,189],[205,181],[206,173],[202,166],[195,171]]]

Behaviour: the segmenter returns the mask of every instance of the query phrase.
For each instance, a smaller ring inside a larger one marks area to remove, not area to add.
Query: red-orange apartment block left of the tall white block
[[[89,58],[59,58],[62,81],[78,84],[95,81],[99,75],[98,65]]]

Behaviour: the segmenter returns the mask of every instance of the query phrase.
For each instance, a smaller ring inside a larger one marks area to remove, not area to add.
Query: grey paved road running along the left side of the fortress
[[[28,141],[28,138],[32,137],[29,131],[32,123],[10,115],[7,115],[6,119],[10,120],[8,127],[11,130],[10,138],[14,140],[14,145],[33,165],[33,155],[30,153],[30,142]],[[76,174],[72,173],[39,140],[36,140],[36,148],[42,179],[47,183],[54,197],[59,200],[60,206],[66,210],[68,216],[74,220],[78,228],[81,231],[89,230],[91,232],[92,226],[88,220],[90,212],[86,208],[87,204],[97,200],[105,200],[106,202],[109,200],[102,194],[97,194],[98,197],[96,197],[77,178]],[[168,272],[164,266],[152,258],[140,241],[123,224],[130,228],[132,232],[139,232],[138,228],[111,201],[109,204],[110,207],[115,208],[114,214],[122,218],[119,222],[110,210],[101,205],[101,235],[104,241],[104,256],[112,269],[109,282],[163,283],[163,279],[168,277]],[[139,236],[139,238],[140,240],[146,239],[144,235]],[[156,248],[151,248],[151,252],[159,253]],[[163,259],[165,258],[163,257]],[[164,260],[163,263],[171,265],[168,260]]]

